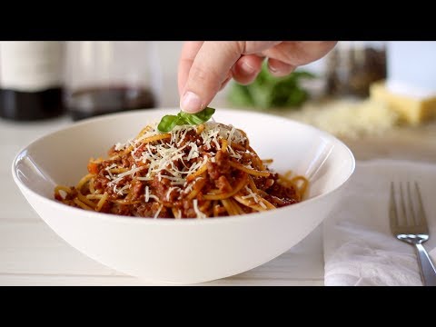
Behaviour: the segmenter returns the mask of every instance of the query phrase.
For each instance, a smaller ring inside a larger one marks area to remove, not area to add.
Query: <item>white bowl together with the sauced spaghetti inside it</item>
[[[159,170],[162,160],[156,154],[164,155],[172,139],[150,137],[158,135],[154,124],[163,114],[176,111],[110,114],[47,134],[15,157],[15,183],[55,233],[97,262],[147,281],[196,283],[248,271],[302,241],[341,198],[354,170],[352,153],[330,134],[270,114],[226,109],[217,109],[216,123],[179,130],[188,135],[185,144],[196,143],[202,133],[216,134],[219,124],[217,135],[223,137],[216,139],[218,145],[211,141],[211,149],[197,152],[193,144],[186,145],[179,154],[186,167],[179,161],[170,172]],[[182,139],[173,137],[174,142]],[[147,141],[135,144],[138,139]],[[131,142],[120,143],[123,140]],[[202,140],[197,147],[207,144]],[[151,152],[143,151],[147,144]],[[154,149],[159,144],[163,148]],[[152,154],[154,160],[148,158]],[[213,158],[227,168],[215,169]],[[292,175],[286,176],[289,170]],[[174,176],[175,171],[180,173]],[[297,176],[300,180],[292,181]],[[270,183],[282,183],[282,189],[272,189]],[[126,199],[128,203],[116,203]],[[226,208],[224,203],[231,204]],[[260,203],[273,208],[264,210]]]

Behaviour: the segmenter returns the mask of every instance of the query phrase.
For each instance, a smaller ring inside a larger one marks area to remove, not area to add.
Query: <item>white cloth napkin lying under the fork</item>
[[[414,247],[391,234],[391,181],[419,183],[431,233],[423,246],[436,263],[436,164],[358,162],[342,201],[323,223],[326,286],[422,285]]]

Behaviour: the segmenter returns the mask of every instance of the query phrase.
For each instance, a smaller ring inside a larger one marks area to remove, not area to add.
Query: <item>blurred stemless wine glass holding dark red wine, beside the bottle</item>
[[[82,120],[159,106],[162,89],[157,45],[148,41],[68,42],[64,104]]]

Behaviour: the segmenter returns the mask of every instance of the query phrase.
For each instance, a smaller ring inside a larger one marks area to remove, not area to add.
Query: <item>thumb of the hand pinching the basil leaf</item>
[[[244,42],[204,42],[189,71],[180,107],[197,113],[210,104],[232,66],[243,53]]]

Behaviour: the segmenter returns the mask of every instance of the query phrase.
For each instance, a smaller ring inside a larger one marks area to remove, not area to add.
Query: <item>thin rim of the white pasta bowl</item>
[[[106,119],[114,119],[117,116],[126,116],[126,115],[136,115],[136,114],[144,114],[144,113],[158,113],[158,112],[172,112],[172,111],[177,111],[180,110],[179,108],[176,107],[170,107],[170,108],[150,108],[150,109],[138,109],[138,110],[131,110],[128,112],[121,112],[121,113],[114,113],[114,114],[102,114],[99,116],[94,116],[91,118],[87,118],[84,119],[83,121],[79,121],[79,122],[74,122],[74,124],[69,124],[67,126],[62,126],[52,132],[43,134],[41,136],[39,136],[38,138],[36,138],[34,141],[32,141],[31,143],[25,145],[24,147],[22,147],[18,153],[15,155],[15,158],[12,162],[12,175],[14,178],[15,183],[20,187],[20,188],[24,188],[26,192],[33,194],[39,201],[41,201],[42,203],[45,203],[46,205],[49,206],[54,206],[55,209],[59,209],[60,211],[67,211],[70,212],[72,211],[72,213],[77,213],[78,215],[85,215],[88,218],[95,218],[97,220],[99,219],[109,219],[111,221],[119,221],[120,223],[141,223],[141,224],[156,224],[156,225],[173,225],[173,224],[183,224],[183,225],[190,225],[190,224],[203,224],[203,223],[232,223],[234,220],[237,222],[243,222],[246,219],[253,219],[255,217],[264,217],[264,216],[268,216],[274,213],[277,213],[277,211],[285,211],[285,210],[290,210],[292,208],[301,208],[303,206],[309,205],[313,202],[318,202],[320,200],[322,200],[324,197],[326,196],[330,196],[332,193],[336,193],[338,192],[344,185],[345,183],[347,183],[350,178],[352,177],[352,174],[355,171],[355,167],[356,167],[356,160],[354,158],[354,155],[352,154],[351,149],[344,144],[341,140],[339,140],[336,136],[329,134],[325,131],[320,130],[319,128],[316,128],[310,124],[304,124],[295,120],[292,120],[290,118],[287,117],[282,117],[276,114],[270,114],[270,113],[259,113],[259,112],[250,112],[250,111],[246,111],[246,110],[240,110],[240,109],[228,109],[228,108],[221,108],[218,107],[217,111],[223,111],[225,113],[238,113],[238,114],[251,114],[251,115],[258,115],[262,117],[268,117],[268,118],[274,118],[274,119],[278,119],[278,120],[284,120],[287,121],[288,123],[291,124],[297,124],[300,125],[303,128],[308,128],[318,134],[321,134],[323,137],[326,137],[328,139],[331,139],[334,143],[336,144],[341,144],[343,149],[347,152],[347,154],[349,155],[349,157],[352,160],[352,164],[351,164],[351,169],[349,171],[349,173],[346,175],[346,177],[343,179],[342,183],[340,183],[339,185],[337,185],[336,187],[334,187],[332,189],[332,191],[328,192],[328,193],[322,193],[319,195],[316,195],[310,199],[304,200],[300,203],[294,203],[292,205],[289,206],[285,206],[285,207],[281,207],[281,208],[277,208],[276,210],[269,210],[269,211],[265,211],[265,212],[259,212],[259,213],[245,213],[245,214],[241,214],[241,215],[237,215],[237,216],[224,216],[224,217],[219,217],[219,219],[212,219],[212,218],[205,218],[205,219],[168,219],[168,218],[160,218],[160,219],[154,219],[152,217],[132,217],[132,216],[124,216],[124,215],[120,215],[120,214],[113,214],[113,213],[96,213],[96,212],[91,212],[91,211],[84,211],[83,209],[79,209],[79,208],[75,208],[72,206],[68,206],[64,203],[59,203],[57,201],[55,201],[54,199],[49,199],[47,197],[45,197],[44,195],[41,195],[40,193],[36,193],[34,190],[32,190],[31,188],[29,188],[27,185],[25,185],[25,183],[23,183],[20,178],[17,175],[16,172],[16,164],[18,163],[18,161],[21,159],[21,157],[23,156],[23,154],[25,154],[25,152],[27,151],[28,148],[30,148],[32,145],[39,143],[39,142],[43,142],[45,138],[47,137],[52,137],[54,134],[59,134],[59,133],[64,133],[66,132],[66,130],[69,129],[74,129],[77,128],[79,126],[82,125],[86,125],[86,124],[95,124],[99,121],[104,121]],[[38,214],[39,215],[39,214]],[[41,217],[43,218],[43,217]],[[145,218],[145,219],[144,219]],[[44,218],[43,218],[44,220]]]

